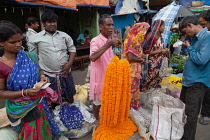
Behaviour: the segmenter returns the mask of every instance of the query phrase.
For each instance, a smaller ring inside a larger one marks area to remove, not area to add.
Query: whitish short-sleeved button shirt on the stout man
[[[51,35],[43,30],[30,36],[27,45],[30,52],[39,56],[41,69],[48,72],[61,72],[61,66],[68,63],[68,52],[76,52],[72,38],[61,31]],[[47,74],[55,77],[55,74]]]

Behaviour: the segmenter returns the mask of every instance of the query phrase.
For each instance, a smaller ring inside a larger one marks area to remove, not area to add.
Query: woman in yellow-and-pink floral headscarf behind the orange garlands
[[[124,41],[122,58],[128,59],[131,66],[131,107],[134,109],[140,107],[141,63],[144,63],[143,43],[149,27],[148,23],[134,24]]]

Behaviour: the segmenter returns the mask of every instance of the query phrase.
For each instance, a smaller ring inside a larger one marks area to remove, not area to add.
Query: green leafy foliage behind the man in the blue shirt
[[[187,56],[182,56],[178,54],[173,54],[170,58],[170,63],[176,63],[178,66],[173,67],[173,74],[183,73],[184,64]]]

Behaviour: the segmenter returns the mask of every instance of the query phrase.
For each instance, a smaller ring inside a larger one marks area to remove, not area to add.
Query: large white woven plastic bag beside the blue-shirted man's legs
[[[177,98],[153,98],[151,136],[154,140],[179,140],[186,123],[185,104]]]

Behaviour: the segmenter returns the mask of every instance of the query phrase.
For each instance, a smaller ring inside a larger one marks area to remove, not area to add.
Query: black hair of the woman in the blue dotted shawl
[[[12,22],[0,21],[0,42],[7,41],[11,36],[22,34],[22,31]]]

